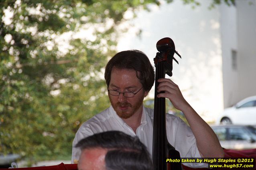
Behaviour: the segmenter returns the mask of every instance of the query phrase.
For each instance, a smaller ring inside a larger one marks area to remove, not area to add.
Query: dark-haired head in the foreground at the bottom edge
[[[119,131],[93,134],[80,140],[78,170],[153,170],[149,153],[138,137]]]

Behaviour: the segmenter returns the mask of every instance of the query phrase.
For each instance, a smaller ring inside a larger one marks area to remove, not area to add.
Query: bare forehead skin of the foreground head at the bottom
[[[104,148],[90,148],[81,152],[78,170],[105,170],[105,155],[107,150]]]

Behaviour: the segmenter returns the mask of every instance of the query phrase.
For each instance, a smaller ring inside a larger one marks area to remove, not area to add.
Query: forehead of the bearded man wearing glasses
[[[135,70],[118,69],[114,67],[111,71],[110,86],[140,86]]]

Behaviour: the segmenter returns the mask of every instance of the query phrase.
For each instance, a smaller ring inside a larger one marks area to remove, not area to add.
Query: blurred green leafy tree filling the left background
[[[0,1],[0,152],[31,162],[70,156],[81,123],[109,106],[103,68],[116,52],[118,25],[149,3],[160,4]]]

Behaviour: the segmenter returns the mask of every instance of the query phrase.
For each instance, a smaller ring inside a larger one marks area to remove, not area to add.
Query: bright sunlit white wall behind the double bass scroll
[[[212,122],[223,111],[220,16],[218,7],[207,8],[211,1],[199,2],[201,6],[195,9],[176,0],[160,7],[152,5],[150,12],[140,10],[129,22],[128,31],[120,36],[117,48],[118,51],[141,50],[154,65],[156,42],[164,37],[172,38],[182,59],[174,55],[179,65],[173,62],[171,80],[198,114]],[[139,30],[142,32],[138,37]]]

